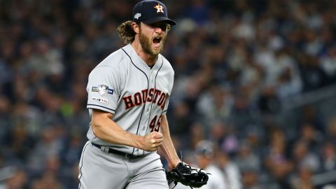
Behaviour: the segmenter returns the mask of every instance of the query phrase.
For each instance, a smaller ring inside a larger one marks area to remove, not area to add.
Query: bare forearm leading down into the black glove
[[[174,148],[172,138],[170,137],[169,125],[165,115],[161,117],[161,133],[163,134],[163,142],[160,149],[165,155],[165,158],[168,160],[169,169],[172,169],[173,167],[176,167],[176,165],[180,162],[180,159]]]

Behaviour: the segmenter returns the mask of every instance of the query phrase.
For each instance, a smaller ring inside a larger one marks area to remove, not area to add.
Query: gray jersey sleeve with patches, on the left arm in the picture
[[[87,82],[87,109],[99,109],[116,113],[120,92],[118,71],[109,66],[92,70]]]

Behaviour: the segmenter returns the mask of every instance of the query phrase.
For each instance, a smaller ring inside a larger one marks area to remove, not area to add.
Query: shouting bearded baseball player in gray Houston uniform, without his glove
[[[160,55],[170,25],[160,1],[140,1],[132,21],[118,27],[127,43],[98,64],[87,83],[89,141],[79,163],[78,188],[168,188],[158,148],[179,164],[169,136],[167,107],[174,83]]]

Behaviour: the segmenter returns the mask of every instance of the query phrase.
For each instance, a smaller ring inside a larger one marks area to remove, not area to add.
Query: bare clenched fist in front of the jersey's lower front
[[[140,148],[144,151],[156,151],[162,145],[163,135],[160,132],[146,134],[141,140]]]

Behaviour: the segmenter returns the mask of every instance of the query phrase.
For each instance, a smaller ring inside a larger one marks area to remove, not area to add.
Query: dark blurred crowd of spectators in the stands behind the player
[[[116,27],[136,2],[0,0],[1,189],[78,188],[87,76],[124,45]],[[206,139],[230,189],[336,188],[316,179],[336,170],[336,113],[304,104],[295,127],[274,120],[288,99],[335,84],[336,1],[164,2],[178,22],[162,54],[181,158],[203,168]]]

